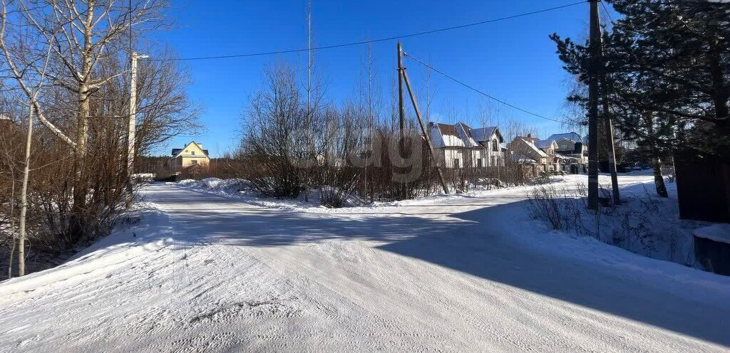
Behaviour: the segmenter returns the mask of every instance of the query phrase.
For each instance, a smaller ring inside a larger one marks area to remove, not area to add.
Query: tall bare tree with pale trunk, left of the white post
[[[5,14],[7,1],[3,0],[2,4]],[[30,28],[34,31],[32,35],[41,41],[28,46],[21,42],[9,43],[3,35],[0,44],[18,86],[31,101],[39,121],[74,151],[72,216],[75,220],[72,227],[75,229],[72,233],[82,236],[79,214],[84,211],[88,199],[88,185],[84,185],[88,178],[83,174],[88,153],[91,100],[94,93],[125,71],[102,71],[99,67],[125,51],[130,26],[134,26],[136,31],[161,26],[166,1],[18,0],[12,4],[18,14],[18,26]],[[51,48],[50,55],[46,50],[40,50],[45,47],[43,44]],[[38,65],[45,62],[42,60],[45,57],[50,57],[51,61],[47,71]],[[28,85],[28,72],[34,73],[34,76],[43,73],[50,79],[50,86],[65,88],[74,94],[75,131],[62,131],[45,117],[42,100]]]

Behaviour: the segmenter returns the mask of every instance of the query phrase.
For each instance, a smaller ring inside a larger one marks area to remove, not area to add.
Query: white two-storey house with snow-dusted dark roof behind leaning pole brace
[[[504,162],[504,139],[496,126],[429,123],[429,135],[446,168],[482,168]]]

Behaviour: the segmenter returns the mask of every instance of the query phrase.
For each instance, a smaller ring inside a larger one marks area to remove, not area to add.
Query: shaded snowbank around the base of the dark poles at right
[[[692,232],[707,222],[680,220],[677,185],[666,183],[669,198],[660,198],[647,172],[621,177],[621,204],[601,206],[597,216],[588,211],[585,177],[572,176],[558,184],[534,187],[526,212],[551,233],[588,236],[646,257],[696,266]],[[610,191],[604,196],[610,198]]]

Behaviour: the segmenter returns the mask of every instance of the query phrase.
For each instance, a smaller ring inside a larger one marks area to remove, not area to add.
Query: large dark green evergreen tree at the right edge
[[[606,100],[616,128],[653,160],[657,193],[666,152],[730,158],[730,4],[609,0],[620,14],[604,34]],[[550,36],[564,68],[588,82],[588,43]],[[569,101],[585,105],[587,97]]]

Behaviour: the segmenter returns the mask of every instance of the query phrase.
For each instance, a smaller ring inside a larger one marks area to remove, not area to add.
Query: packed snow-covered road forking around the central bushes
[[[525,190],[274,209],[155,206],[0,284],[1,352],[718,352],[730,279],[526,221]]]

